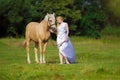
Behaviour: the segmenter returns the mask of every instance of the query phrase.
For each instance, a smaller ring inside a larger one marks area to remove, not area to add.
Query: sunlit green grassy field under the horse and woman
[[[99,40],[71,37],[76,63],[60,65],[55,42],[49,41],[46,64],[36,64],[31,46],[31,64],[25,49],[18,46],[24,39],[0,39],[0,80],[120,80],[120,38]]]

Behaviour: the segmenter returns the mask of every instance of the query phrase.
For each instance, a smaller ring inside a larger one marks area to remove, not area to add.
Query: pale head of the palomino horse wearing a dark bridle
[[[52,29],[54,32],[56,32],[57,29],[56,29],[56,25],[55,25],[55,13],[53,13],[53,14],[47,13],[47,15],[45,16],[45,19],[49,23],[49,29]]]

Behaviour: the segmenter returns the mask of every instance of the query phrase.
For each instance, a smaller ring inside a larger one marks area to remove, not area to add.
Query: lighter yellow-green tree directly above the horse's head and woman
[[[40,14],[55,12],[56,16],[63,16],[64,21],[69,23],[71,34],[76,31],[76,22],[81,18],[80,9],[76,10],[74,0],[42,0],[36,4],[36,9]]]

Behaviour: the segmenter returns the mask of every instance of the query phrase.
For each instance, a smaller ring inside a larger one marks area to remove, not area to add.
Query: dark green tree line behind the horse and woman
[[[70,35],[99,38],[106,24],[119,25],[119,8],[111,4],[108,0],[0,0],[0,37],[24,36],[29,22],[40,22],[46,13],[55,12],[68,22]]]

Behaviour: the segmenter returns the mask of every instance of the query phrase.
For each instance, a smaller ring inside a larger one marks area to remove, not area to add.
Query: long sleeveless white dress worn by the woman
[[[70,38],[68,38],[67,42],[64,42],[66,36],[66,23],[62,22],[58,26],[58,35],[57,35],[57,44],[59,48],[59,52],[65,56],[70,63],[75,62],[75,52],[74,48],[71,44]]]

